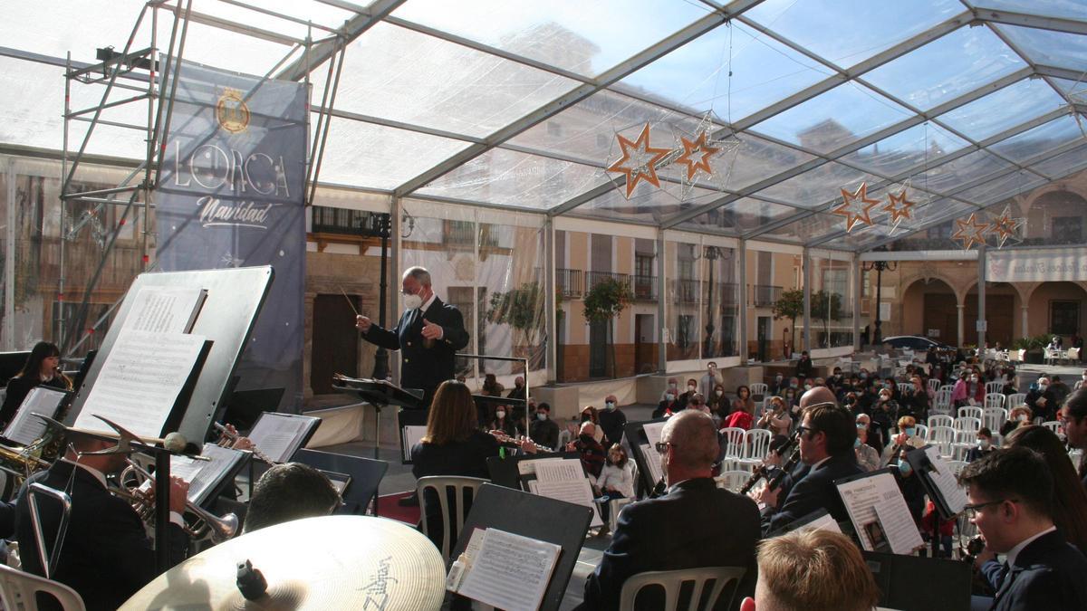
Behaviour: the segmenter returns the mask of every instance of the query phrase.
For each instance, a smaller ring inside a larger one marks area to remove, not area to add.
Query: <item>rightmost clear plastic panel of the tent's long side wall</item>
[[[848,258],[811,252],[811,348],[853,345],[853,264]]]

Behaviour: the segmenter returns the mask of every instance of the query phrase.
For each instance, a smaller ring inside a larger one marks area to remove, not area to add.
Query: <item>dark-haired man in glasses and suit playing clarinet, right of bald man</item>
[[[780,510],[774,509],[780,488],[763,489],[757,496],[763,511],[763,528],[767,533],[819,509],[826,509],[839,522],[847,520],[849,516],[834,481],[864,472],[853,453],[857,427],[849,410],[833,402],[808,406],[798,431],[800,460],[810,465],[810,470],[797,479]]]

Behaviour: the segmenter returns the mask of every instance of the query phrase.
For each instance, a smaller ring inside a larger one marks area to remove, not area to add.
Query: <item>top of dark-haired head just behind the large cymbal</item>
[[[332,515],[341,503],[324,473],[300,462],[273,465],[253,485],[245,533],[303,518]]]

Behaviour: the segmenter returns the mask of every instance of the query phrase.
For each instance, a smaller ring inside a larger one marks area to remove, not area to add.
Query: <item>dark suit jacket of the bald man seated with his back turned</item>
[[[709,477],[682,482],[663,497],[623,508],[611,545],[585,582],[585,602],[578,609],[619,609],[623,583],[646,571],[746,566],[740,591],[750,594],[759,538],[759,510],[753,501],[717,488]],[[726,587],[722,598],[728,593]],[[636,607],[661,608],[661,600],[647,598],[651,597],[638,597]],[[686,608],[683,601],[679,608]],[[724,608],[723,603],[716,607]]]

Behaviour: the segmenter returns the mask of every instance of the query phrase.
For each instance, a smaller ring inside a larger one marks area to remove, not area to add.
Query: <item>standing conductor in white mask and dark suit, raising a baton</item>
[[[442,303],[430,286],[430,273],[410,267],[401,283],[407,310],[391,329],[359,315],[362,338],[387,350],[400,350],[400,386],[422,388],[429,406],[438,385],[454,375],[457,351],[468,345],[464,319],[455,306]]]

